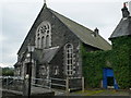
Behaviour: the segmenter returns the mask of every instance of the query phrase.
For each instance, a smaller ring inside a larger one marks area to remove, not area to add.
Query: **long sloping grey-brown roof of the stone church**
[[[52,11],[49,9],[52,14],[55,14],[72,33],[74,33],[84,44],[92,47],[110,50],[111,46],[100,35],[93,36],[93,30],[80,25],[79,23]]]

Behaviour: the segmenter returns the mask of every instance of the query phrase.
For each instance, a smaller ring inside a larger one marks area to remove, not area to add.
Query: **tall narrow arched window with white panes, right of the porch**
[[[73,75],[73,45],[68,44],[64,47],[66,50],[66,68],[67,75]]]

